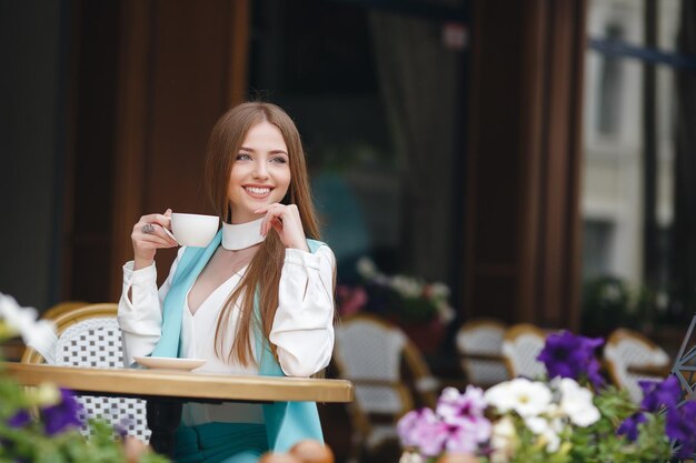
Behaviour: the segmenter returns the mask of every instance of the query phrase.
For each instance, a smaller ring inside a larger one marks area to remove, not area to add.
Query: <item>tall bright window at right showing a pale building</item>
[[[694,310],[675,291],[677,74],[694,76],[682,22],[680,0],[589,1],[584,276],[622,281],[644,325]]]

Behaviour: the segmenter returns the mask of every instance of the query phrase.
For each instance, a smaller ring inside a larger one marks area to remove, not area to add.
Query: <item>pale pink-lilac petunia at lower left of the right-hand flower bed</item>
[[[448,426],[430,409],[408,412],[397,423],[404,446],[417,446],[426,456],[436,456],[445,449]]]

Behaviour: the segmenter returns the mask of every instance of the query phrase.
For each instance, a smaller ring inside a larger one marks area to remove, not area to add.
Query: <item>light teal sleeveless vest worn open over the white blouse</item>
[[[186,294],[196,282],[222,240],[222,231],[212,239],[207,248],[187,248],[171,280],[171,286],[165,298],[162,310],[161,336],[152,351],[152,356],[178,358],[180,354],[181,322]],[[307,240],[311,253],[324,244]],[[258,314],[258,298],[255,300]],[[272,354],[266,336],[257,331],[255,353],[259,364],[259,374],[284,376],[282,369]],[[317,405],[314,402],[276,402],[264,404],[264,421],[268,436],[268,447],[275,452],[286,452],[297,442],[311,439],[324,442]]]

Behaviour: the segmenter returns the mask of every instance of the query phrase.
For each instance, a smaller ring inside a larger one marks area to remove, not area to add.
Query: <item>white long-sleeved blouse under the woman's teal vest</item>
[[[258,241],[249,244],[249,236],[246,235],[247,230],[253,233],[258,230],[258,227],[250,228],[250,224],[225,224],[225,248],[233,249],[235,243],[247,246],[256,244]],[[123,292],[119,301],[118,320],[122,331],[126,366],[133,364],[135,356],[149,355],[159,341],[162,304],[183,251],[185,248],[179,250],[169,276],[159,291],[155,263],[137,271],[132,270],[132,261],[123,265]],[[335,262],[334,253],[326,245],[320,246],[315,254],[297,249],[286,250],[278,289],[278,310],[269,339],[277,346],[280,368],[288,376],[309,376],[329,363],[334,349]],[[187,294],[181,322],[181,355],[186,359],[205,359],[206,364],[197,369],[198,372],[258,374],[256,364],[243,366],[236,361],[228,362],[219,359],[215,352],[218,315],[245,271],[246,266],[213,290],[192,314]],[[129,291],[132,291],[132,301],[128,298]],[[236,332],[238,320],[239,311],[235,309],[229,318],[228,333]],[[227,336],[222,352],[229,352],[231,342],[232,336]],[[253,338],[250,342],[253,346]],[[209,422],[261,423],[264,420],[261,406],[257,404],[191,403],[183,407],[182,421],[186,425],[196,425]]]

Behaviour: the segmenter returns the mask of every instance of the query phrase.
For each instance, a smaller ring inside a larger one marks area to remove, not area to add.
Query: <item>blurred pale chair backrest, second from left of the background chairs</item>
[[[456,344],[469,383],[487,387],[509,378],[503,358],[505,330],[505,323],[493,319],[470,320],[461,325]]]

